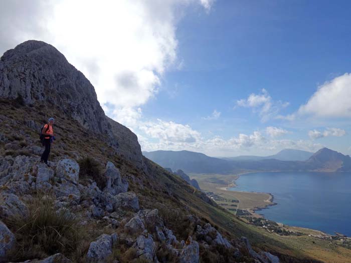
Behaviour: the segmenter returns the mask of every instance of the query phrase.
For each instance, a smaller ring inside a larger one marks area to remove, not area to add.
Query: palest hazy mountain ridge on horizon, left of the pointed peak
[[[295,149],[284,149],[274,155],[269,156],[252,156],[252,155],[241,155],[236,157],[224,157],[222,159],[231,161],[242,161],[242,160],[266,160],[266,159],[276,159],[280,161],[306,161],[309,157],[313,155],[313,152],[295,150]]]

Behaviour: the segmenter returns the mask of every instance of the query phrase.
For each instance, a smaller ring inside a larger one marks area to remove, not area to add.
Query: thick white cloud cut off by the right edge
[[[344,74],[318,87],[298,114],[316,117],[351,117],[351,74]]]

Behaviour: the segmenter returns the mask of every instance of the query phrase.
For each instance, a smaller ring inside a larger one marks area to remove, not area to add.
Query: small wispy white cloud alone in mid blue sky
[[[253,112],[257,112],[262,122],[276,118],[279,111],[288,105],[288,102],[274,101],[265,89],[260,94],[252,93],[247,99],[237,101],[237,106],[252,108]]]

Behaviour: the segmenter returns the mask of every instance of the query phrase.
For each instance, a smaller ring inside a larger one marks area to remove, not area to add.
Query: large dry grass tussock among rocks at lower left
[[[42,258],[55,253],[72,255],[77,251],[81,242],[78,220],[67,209],[57,210],[53,198],[44,197],[34,196],[26,216],[16,215],[5,221],[17,240],[9,259]]]

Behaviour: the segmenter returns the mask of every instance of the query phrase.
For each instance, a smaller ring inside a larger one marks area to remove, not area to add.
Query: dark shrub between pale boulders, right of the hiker
[[[106,187],[106,179],[101,173],[99,162],[91,157],[85,157],[78,161],[79,163],[79,178],[91,178],[96,182],[96,185],[102,190]]]

